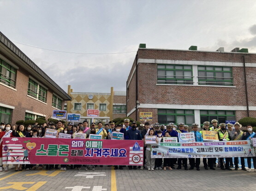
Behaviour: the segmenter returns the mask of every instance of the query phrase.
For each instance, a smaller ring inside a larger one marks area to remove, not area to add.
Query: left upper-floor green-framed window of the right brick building
[[[192,66],[157,65],[158,84],[193,84]]]

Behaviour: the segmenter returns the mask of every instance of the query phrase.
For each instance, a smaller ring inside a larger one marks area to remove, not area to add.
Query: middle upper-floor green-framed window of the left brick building
[[[46,103],[47,90],[32,79],[29,79],[28,95]]]

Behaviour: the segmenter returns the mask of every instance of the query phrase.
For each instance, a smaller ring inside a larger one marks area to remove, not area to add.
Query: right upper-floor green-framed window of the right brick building
[[[233,85],[232,67],[198,66],[199,85]]]

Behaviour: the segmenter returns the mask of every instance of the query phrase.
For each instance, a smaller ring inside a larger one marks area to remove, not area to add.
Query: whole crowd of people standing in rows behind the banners
[[[131,126],[130,126],[131,124]],[[220,123],[218,125],[218,121],[213,119],[211,121],[212,127],[210,127],[210,122],[206,121],[203,123],[202,128],[198,124],[192,124],[190,132],[194,132],[196,142],[203,141],[202,139],[202,130],[205,131],[216,131],[220,141],[229,141],[229,140],[251,140],[252,138],[256,138],[256,133],[253,132],[252,126],[248,124],[246,126],[247,131],[242,131],[241,124],[236,122],[233,124],[224,124]],[[17,128],[11,124],[0,124],[0,171],[8,171],[8,164],[3,169],[2,162],[2,138],[3,137],[33,137],[33,138],[42,138],[45,135],[46,129],[56,129],[58,133],[71,134],[72,138],[74,138],[74,133],[84,133],[86,134],[86,138],[89,139],[90,134],[101,135],[102,139],[110,139],[112,136],[112,132],[121,132],[124,134],[125,140],[144,140],[145,135],[156,135],[157,142],[162,141],[162,137],[171,136],[178,137],[178,133],[187,133],[189,132],[189,126],[184,123],[179,123],[178,126],[170,123],[167,125],[160,125],[158,123],[154,125],[150,125],[149,122],[145,122],[144,124],[140,124],[137,126],[136,122],[130,122],[129,119],[124,120],[124,124],[115,124],[114,121],[110,121],[109,124],[103,124],[101,122],[97,123],[97,127],[95,123],[92,123],[90,126],[88,122],[85,120],[83,123],[79,123],[77,125],[73,125],[69,123],[66,127],[63,124],[63,121],[59,120],[56,124],[54,123],[45,123],[43,125],[27,125],[26,127],[22,124],[18,125]],[[56,137],[58,138],[59,135]],[[179,137],[178,137],[179,141]],[[148,170],[173,170],[173,169],[182,169],[184,167],[185,170],[200,170],[200,158],[189,158],[190,168],[188,168],[188,158],[151,158],[150,152],[151,145],[144,145],[144,161],[143,166],[138,166],[140,169],[148,169]],[[24,156],[25,157],[25,156]],[[253,165],[256,172],[256,157],[247,157],[248,169],[245,169],[244,157],[240,157],[241,161],[241,169],[244,171],[251,171],[251,158],[253,159]],[[203,166],[205,170],[212,169],[215,170],[215,167],[219,167],[222,170],[232,170],[234,167],[235,170],[239,169],[238,166],[238,157],[234,157],[234,161],[232,157],[226,157],[225,163],[224,158],[203,158]],[[234,162],[234,163],[233,163]],[[175,165],[178,165],[175,167]],[[97,165],[83,165],[85,170],[95,170]],[[51,169],[59,169],[59,164],[15,164],[15,171],[25,170],[41,170],[41,169],[51,170]],[[66,170],[67,168],[79,170],[82,168],[82,165],[66,165],[61,164],[60,170]],[[100,165],[100,167],[103,167]],[[120,165],[114,166],[114,169],[123,169],[125,166]],[[128,166],[129,169],[137,169],[137,166]]]

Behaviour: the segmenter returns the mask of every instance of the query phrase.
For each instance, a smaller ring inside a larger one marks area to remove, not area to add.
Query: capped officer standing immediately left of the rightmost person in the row
[[[242,125],[239,124],[238,122],[236,122],[234,124],[234,127],[235,127],[235,130],[234,130],[233,137],[231,137],[232,140],[242,140],[243,134],[244,134],[244,131],[240,130]],[[240,161],[241,161],[241,165],[242,165],[242,170],[246,171],[244,157],[240,157]],[[238,170],[238,157],[234,157],[234,163],[235,163],[235,170]]]

